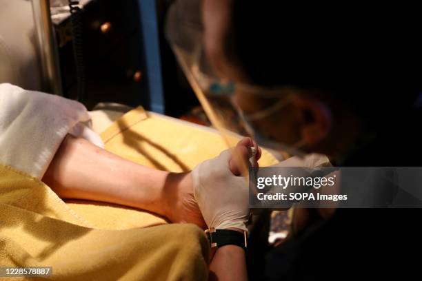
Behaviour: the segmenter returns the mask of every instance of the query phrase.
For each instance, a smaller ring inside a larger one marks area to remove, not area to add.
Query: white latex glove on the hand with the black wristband
[[[206,160],[192,170],[194,198],[209,228],[247,231],[249,219],[248,182],[229,168],[229,150]]]

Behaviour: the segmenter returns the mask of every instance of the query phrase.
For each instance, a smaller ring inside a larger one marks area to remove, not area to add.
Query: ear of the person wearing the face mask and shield
[[[312,146],[327,138],[332,127],[331,112],[326,105],[309,96],[297,95],[293,103],[299,112],[301,136]]]

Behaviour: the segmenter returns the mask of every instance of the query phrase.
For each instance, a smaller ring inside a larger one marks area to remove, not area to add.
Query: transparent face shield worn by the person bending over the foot
[[[283,117],[283,110],[291,103],[294,89],[245,85],[215,74],[203,49],[201,1],[176,1],[170,8],[165,28],[192,90],[228,147],[235,147],[242,136],[249,136],[262,147],[283,154],[304,155],[299,150],[301,142],[283,145],[271,134],[277,132],[277,120]],[[247,175],[247,164],[241,161],[241,156],[232,152],[242,166],[242,174]]]

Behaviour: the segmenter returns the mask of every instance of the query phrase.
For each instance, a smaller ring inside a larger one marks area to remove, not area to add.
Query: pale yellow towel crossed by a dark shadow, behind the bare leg
[[[227,148],[220,134],[212,129],[148,114],[142,107],[119,118],[101,138],[110,152],[167,171],[189,171]],[[259,165],[270,166],[278,162],[264,149]]]

